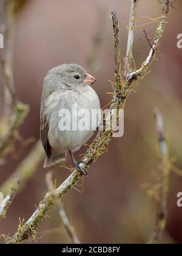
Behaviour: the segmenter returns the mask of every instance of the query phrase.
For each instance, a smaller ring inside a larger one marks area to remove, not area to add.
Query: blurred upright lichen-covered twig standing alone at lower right
[[[163,117],[160,110],[155,108],[155,119],[157,123],[158,144],[159,144],[159,160],[158,160],[158,177],[159,191],[157,196],[157,215],[155,228],[150,235],[149,244],[158,243],[166,227],[167,219],[167,196],[169,191],[169,174],[170,161],[169,149],[166,141],[166,135],[163,124]]]

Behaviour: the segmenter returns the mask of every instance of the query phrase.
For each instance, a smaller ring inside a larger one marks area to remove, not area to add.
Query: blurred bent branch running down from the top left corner
[[[5,1],[5,12],[7,16],[7,49],[0,50],[0,69],[4,80],[5,88],[7,88],[13,104],[13,114],[7,123],[7,135],[0,143],[0,157],[7,152],[10,143],[15,140],[18,134],[18,128],[24,121],[29,112],[27,105],[18,102],[14,90],[13,72],[12,72],[12,55],[13,55],[13,30],[14,30],[14,12],[13,6],[15,2],[12,0]],[[10,127],[10,129],[8,129]]]

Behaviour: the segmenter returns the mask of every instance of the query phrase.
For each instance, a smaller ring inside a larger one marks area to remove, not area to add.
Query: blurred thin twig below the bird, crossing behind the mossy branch
[[[52,181],[52,174],[50,172],[48,172],[46,175],[46,182],[47,182],[48,189],[51,192],[51,196],[54,201],[54,204],[58,208],[59,215],[61,217],[64,228],[66,229],[66,232],[70,237],[70,240],[73,242],[73,244],[80,244],[80,241],[78,239],[78,236],[76,235],[75,229],[70,224],[69,219],[67,218],[62,202],[59,201],[59,197],[55,194],[55,186]]]

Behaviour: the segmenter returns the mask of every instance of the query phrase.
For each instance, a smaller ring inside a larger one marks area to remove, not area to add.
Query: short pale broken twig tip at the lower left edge
[[[0,202],[0,219],[5,218],[8,208],[13,202],[15,198],[16,192],[18,190],[19,180],[16,180],[15,185],[10,186],[10,191],[8,192],[7,196]]]

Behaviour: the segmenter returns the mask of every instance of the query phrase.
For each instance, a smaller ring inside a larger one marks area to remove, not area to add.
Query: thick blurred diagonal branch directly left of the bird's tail
[[[44,157],[45,152],[42,148],[41,140],[38,140],[35,145],[33,145],[27,157],[22,160],[13,174],[1,185],[0,191],[3,194],[7,194],[8,187],[12,184],[15,178],[19,179],[18,192],[21,191],[25,187],[27,181],[30,180],[30,177],[33,176],[40,163],[44,160]]]

